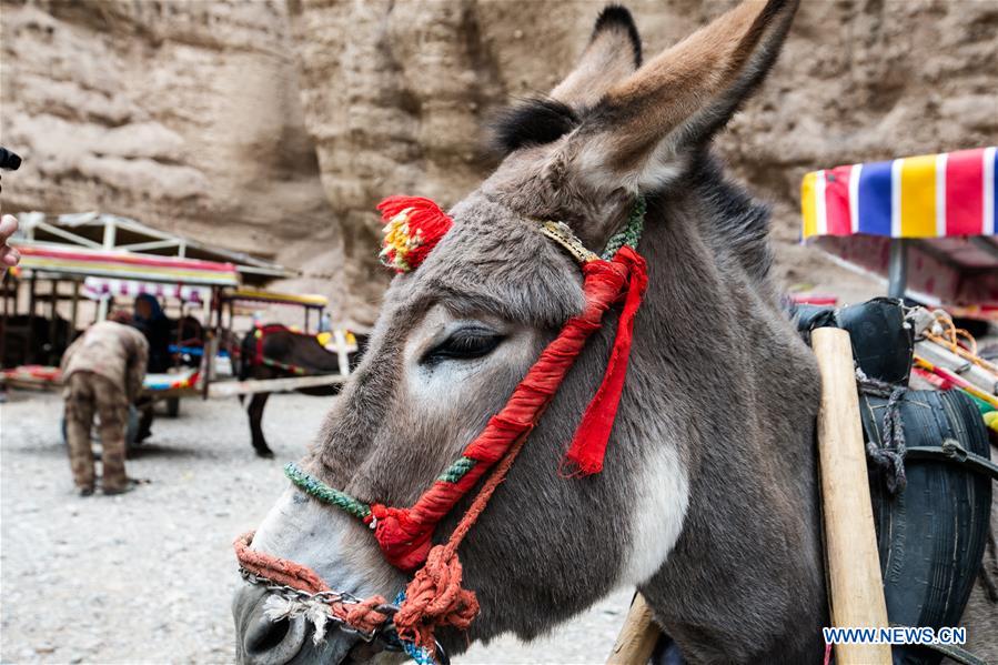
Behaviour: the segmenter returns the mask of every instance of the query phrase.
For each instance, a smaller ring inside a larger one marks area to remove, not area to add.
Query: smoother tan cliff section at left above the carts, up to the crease
[[[300,263],[339,225],[305,131],[282,2],[12,2],[4,211],[100,210]],[[305,248],[306,251],[302,251]]]

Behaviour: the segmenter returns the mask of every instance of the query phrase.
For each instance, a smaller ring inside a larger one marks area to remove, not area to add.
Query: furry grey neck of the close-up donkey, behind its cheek
[[[756,246],[726,228],[755,204],[715,171],[688,185],[649,202],[641,244],[649,288],[634,369],[668,395],[624,417],[666,419],[689,483],[683,532],[642,591],[692,662],[818,657],[817,370],[752,270],[763,254],[746,255],[766,251],[765,228]]]

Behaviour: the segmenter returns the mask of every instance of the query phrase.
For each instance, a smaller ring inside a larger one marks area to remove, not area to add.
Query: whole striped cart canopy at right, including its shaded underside
[[[885,275],[893,240],[906,239],[915,294],[998,303],[996,159],[991,147],[807,173],[804,241]]]

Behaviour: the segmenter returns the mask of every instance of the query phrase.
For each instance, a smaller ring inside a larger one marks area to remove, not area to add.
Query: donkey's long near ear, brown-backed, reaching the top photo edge
[[[612,87],[565,165],[601,190],[661,188],[765,79],[799,0],[745,0]]]

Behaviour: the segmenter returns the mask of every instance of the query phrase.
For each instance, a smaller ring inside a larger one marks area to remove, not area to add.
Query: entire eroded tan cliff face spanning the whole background
[[[734,1],[635,0],[648,56]],[[9,208],[101,208],[272,251],[370,322],[389,274],[373,204],[448,204],[492,164],[482,125],[573,66],[602,2],[3,0]],[[797,246],[804,172],[994,143],[998,3],[804,2],[718,141],[774,203],[788,283],[878,291]],[[11,101],[12,100],[12,101]],[[317,160],[317,161],[316,161]]]

